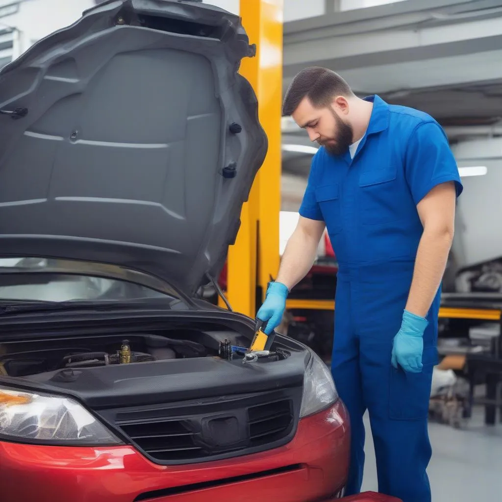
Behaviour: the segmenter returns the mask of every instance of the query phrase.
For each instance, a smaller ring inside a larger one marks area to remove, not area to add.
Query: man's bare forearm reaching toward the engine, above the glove
[[[296,286],[312,268],[319,240],[301,231],[295,231],[288,240],[277,275],[277,282],[289,290]]]

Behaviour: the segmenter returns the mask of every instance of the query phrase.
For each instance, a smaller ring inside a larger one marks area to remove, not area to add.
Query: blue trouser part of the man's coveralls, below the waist
[[[346,495],[360,492],[368,410],[378,489],[403,502],[430,502],[426,468],[431,458],[427,418],[433,365],[437,362],[439,294],[428,315],[421,373],[391,364],[393,338],[401,327],[413,270],[339,272],[336,286],[332,374],[351,423]],[[434,320],[435,325],[434,325]]]

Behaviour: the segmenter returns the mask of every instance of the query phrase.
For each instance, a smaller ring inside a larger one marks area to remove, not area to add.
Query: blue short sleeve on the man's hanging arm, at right
[[[441,126],[422,122],[415,128],[406,150],[405,176],[418,204],[436,185],[453,181],[457,197],[462,193],[455,157]]]

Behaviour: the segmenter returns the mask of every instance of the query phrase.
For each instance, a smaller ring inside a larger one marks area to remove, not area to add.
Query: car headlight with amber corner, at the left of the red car
[[[3,387],[0,387],[0,437],[62,445],[121,443],[72,399]]]

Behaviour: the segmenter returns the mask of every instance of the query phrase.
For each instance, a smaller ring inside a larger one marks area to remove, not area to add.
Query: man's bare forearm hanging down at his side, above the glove
[[[443,278],[453,241],[452,232],[425,229],[418,246],[406,310],[426,317]]]

